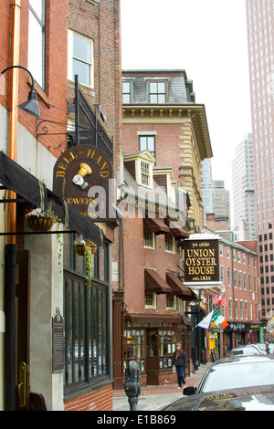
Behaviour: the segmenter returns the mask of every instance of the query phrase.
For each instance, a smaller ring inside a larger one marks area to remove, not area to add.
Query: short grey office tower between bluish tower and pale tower
[[[213,182],[213,212],[216,217],[227,217],[230,228],[230,192],[225,188],[223,180]]]

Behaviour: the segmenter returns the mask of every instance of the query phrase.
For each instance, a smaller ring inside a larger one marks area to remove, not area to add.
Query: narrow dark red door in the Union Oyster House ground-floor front
[[[159,384],[158,330],[146,330],[146,383]]]

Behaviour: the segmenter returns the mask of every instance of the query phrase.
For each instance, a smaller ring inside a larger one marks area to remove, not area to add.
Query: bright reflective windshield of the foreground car
[[[201,392],[213,392],[268,384],[274,384],[274,361],[234,362],[225,366],[214,366],[214,368],[208,372]]]

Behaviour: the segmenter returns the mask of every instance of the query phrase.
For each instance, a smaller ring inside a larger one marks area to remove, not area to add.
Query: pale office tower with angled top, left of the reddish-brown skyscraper
[[[255,189],[252,134],[236,148],[232,162],[234,228],[240,233],[245,222],[249,240],[256,238]]]

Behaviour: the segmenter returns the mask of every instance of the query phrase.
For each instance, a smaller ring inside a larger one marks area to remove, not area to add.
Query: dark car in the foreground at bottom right
[[[216,361],[198,387],[164,411],[274,410],[274,356],[239,355]]]

